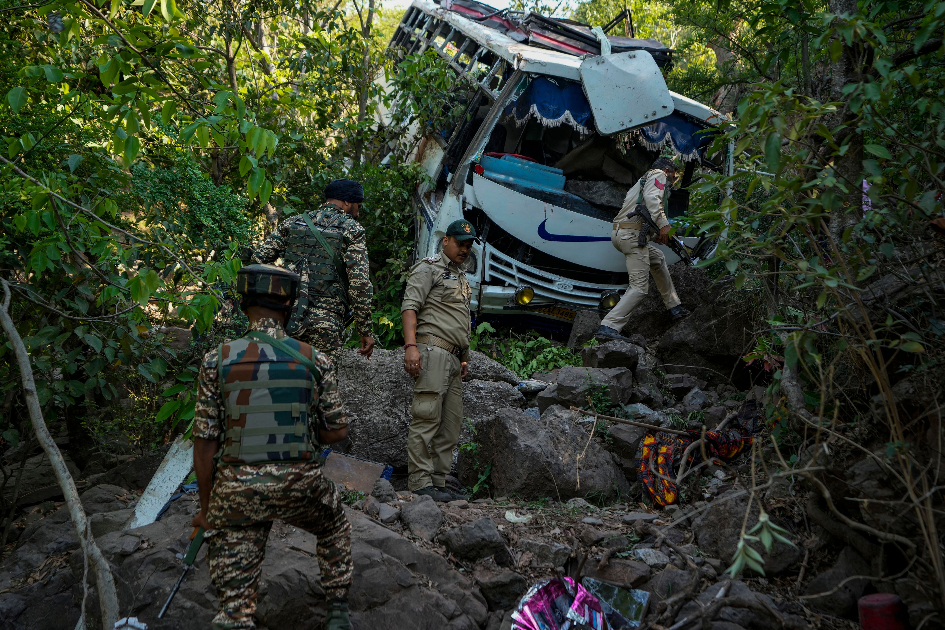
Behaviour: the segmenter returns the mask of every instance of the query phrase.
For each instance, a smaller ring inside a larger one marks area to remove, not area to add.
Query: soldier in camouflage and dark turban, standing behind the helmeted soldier
[[[364,228],[355,220],[363,201],[360,183],[335,179],[325,187],[325,202],[318,210],[285,219],[252,255],[253,263],[274,263],[282,257],[301,274],[301,296],[286,332],[328,354],[335,366],[349,312],[361,336],[358,351],[370,358],[374,349],[368,245]],[[313,228],[333,251],[326,251]]]

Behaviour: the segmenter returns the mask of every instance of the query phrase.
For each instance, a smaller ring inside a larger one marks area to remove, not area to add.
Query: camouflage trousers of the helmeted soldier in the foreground
[[[214,630],[256,625],[256,595],[273,519],[318,536],[318,570],[326,599],[345,598],[352,583],[351,524],[335,483],[314,464],[220,465],[207,519],[207,562],[219,611]]]

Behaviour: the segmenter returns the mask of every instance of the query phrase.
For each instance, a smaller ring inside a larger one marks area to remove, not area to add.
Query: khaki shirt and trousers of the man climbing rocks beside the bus
[[[654,223],[662,230],[669,225],[669,219],[663,212],[663,201],[668,194],[666,187],[666,173],[662,170],[654,169],[649,171],[644,181],[644,204],[653,217]],[[629,286],[623,298],[617,302],[617,305],[610,309],[610,313],[604,317],[600,323],[601,326],[607,326],[615,331],[622,331],[627,326],[630,319],[630,313],[646,297],[649,292],[649,276],[653,275],[656,286],[660,290],[662,302],[667,309],[679,306],[679,296],[676,295],[676,287],[673,285],[673,279],[669,276],[669,267],[666,265],[666,258],[662,255],[659,247],[647,243],[645,247],[637,246],[637,239],[640,236],[640,230],[643,229],[643,220],[637,216],[627,219],[627,214],[632,213],[637,206],[637,198],[640,196],[640,181],[633,185],[633,188],[627,192],[624,197],[624,206],[617,213],[613,220],[613,231],[610,233],[610,243],[616,247],[627,258],[627,275],[629,276]],[[652,232],[651,232],[652,233]],[[655,236],[655,234],[653,234]]]

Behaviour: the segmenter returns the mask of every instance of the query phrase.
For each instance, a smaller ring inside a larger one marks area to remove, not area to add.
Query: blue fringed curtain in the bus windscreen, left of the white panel
[[[559,83],[559,84],[558,84]],[[534,116],[545,127],[570,125],[581,133],[590,133],[591,105],[580,83],[538,77],[525,88],[518,100],[509,105],[506,116],[522,127]]]

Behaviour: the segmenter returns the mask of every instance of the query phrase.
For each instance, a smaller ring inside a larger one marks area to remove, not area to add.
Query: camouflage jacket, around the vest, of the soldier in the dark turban
[[[368,267],[368,243],[365,240],[365,231],[360,223],[351,216],[341,212],[334,203],[323,203],[315,212],[309,212],[312,222],[318,228],[327,228],[324,235],[329,237],[329,243],[332,232],[337,234],[341,247],[335,253],[341,257],[348,270],[348,297],[351,300],[350,306],[354,315],[354,325],[357,332],[363,336],[369,336],[372,333],[373,326],[371,320],[370,301],[373,296],[373,289],[370,285],[370,275]],[[304,226],[301,214],[290,216],[279,224],[274,232],[269,234],[266,242],[263,243],[252,255],[253,263],[274,263],[276,259],[286,257],[289,234],[296,224]],[[300,273],[307,273],[307,269],[297,268]],[[313,282],[308,282],[314,286]],[[338,287],[335,287],[336,289]],[[345,315],[345,305],[341,299],[335,295],[309,295],[307,313],[329,312],[338,318]],[[306,316],[306,319],[309,319]]]

